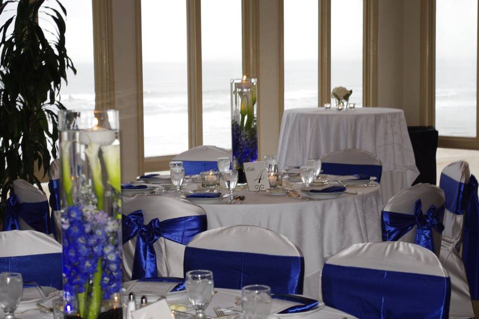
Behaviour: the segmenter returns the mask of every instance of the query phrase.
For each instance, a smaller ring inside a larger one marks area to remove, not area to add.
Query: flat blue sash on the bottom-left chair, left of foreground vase
[[[62,289],[61,253],[0,257],[1,272],[20,273],[24,282]]]

